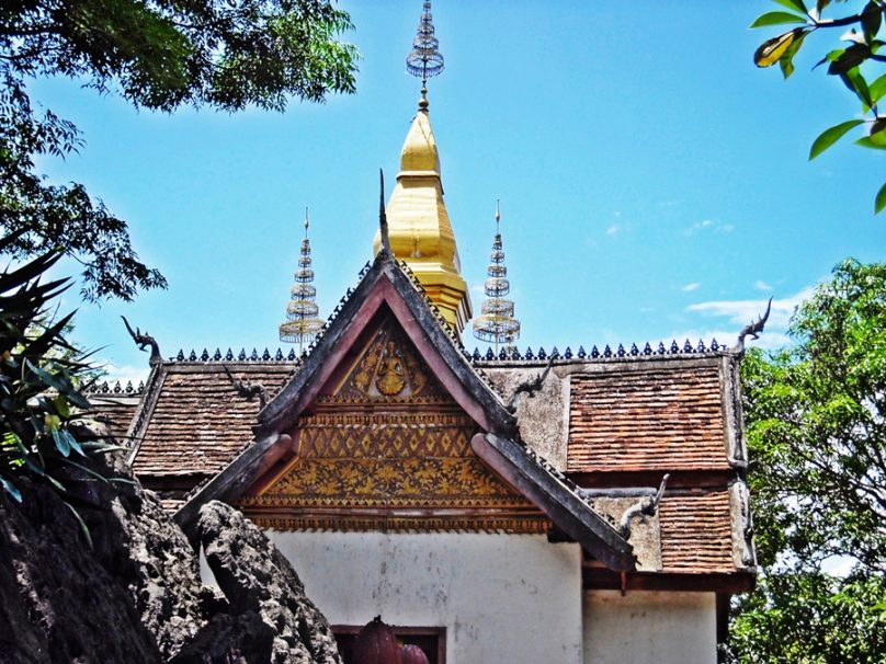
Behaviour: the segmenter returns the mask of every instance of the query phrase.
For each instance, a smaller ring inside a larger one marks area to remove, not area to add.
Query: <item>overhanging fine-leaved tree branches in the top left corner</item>
[[[82,146],[77,127],[30,96],[65,76],[136,107],[182,104],[282,111],[354,90],[351,28],[329,0],[10,0],[0,3],[0,227],[18,257],[60,248],[83,266],[83,296],[130,299],[164,287],[129,244],[126,222],[79,184],[52,185],[38,154]]]

